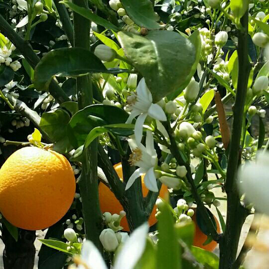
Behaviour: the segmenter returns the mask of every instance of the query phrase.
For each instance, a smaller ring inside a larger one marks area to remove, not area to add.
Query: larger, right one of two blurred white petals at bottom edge
[[[147,223],[142,224],[134,230],[130,238],[126,240],[122,251],[118,254],[114,269],[134,268],[144,252],[147,232]]]

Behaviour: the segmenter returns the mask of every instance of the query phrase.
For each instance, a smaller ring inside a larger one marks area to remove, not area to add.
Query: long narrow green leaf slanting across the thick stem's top
[[[92,12],[92,10],[90,10],[90,9],[87,9],[85,7],[80,7],[80,6],[70,2],[68,0],[60,1],[60,3],[64,3],[64,4],[68,5],[71,9],[73,9],[78,14],[80,14],[83,17],[95,22],[98,25],[104,26],[106,29],[110,29],[110,30],[113,30],[115,32],[118,32],[120,30],[117,26],[115,26],[114,24],[112,24],[108,20],[94,14]]]

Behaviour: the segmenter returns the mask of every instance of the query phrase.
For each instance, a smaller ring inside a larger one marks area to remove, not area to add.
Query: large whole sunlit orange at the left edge
[[[0,212],[16,227],[41,230],[65,215],[75,190],[73,169],[63,155],[23,147],[0,169]]]

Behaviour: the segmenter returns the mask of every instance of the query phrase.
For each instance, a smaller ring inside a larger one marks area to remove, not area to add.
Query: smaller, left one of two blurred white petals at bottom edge
[[[81,250],[81,259],[87,264],[89,268],[107,269],[107,266],[99,250],[89,240],[86,240],[83,243]],[[84,269],[84,266],[80,265],[79,269]]]

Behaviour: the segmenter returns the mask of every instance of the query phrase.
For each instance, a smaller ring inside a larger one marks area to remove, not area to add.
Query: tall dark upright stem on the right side
[[[230,142],[225,190],[227,193],[227,221],[224,236],[220,240],[219,269],[238,269],[235,264],[240,233],[248,211],[242,206],[237,190],[237,170],[241,162],[241,133],[244,106],[247,95],[251,64],[248,59],[248,11],[241,19],[242,28],[238,34],[238,87],[234,105],[233,130]]]

